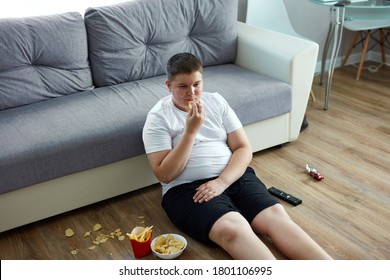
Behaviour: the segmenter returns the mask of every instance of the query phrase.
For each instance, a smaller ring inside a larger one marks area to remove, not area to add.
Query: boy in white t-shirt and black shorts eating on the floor
[[[168,217],[234,259],[275,259],[257,234],[269,236],[288,258],[330,259],[248,167],[252,150],[244,129],[221,95],[203,92],[202,75],[194,55],[171,57],[171,95],[153,107],[143,130]]]

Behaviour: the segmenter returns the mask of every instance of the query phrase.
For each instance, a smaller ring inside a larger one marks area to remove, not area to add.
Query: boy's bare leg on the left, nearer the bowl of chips
[[[234,259],[275,259],[238,212],[229,212],[220,217],[211,227],[209,237]]]

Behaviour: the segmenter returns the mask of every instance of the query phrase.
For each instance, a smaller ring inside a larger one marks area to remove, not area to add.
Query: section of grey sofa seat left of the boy
[[[159,77],[0,111],[0,193],[144,153],[146,114],[167,94]]]

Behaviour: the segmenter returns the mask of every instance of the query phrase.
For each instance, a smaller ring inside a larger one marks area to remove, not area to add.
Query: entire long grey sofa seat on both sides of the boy
[[[142,128],[149,110],[169,94],[165,79],[0,111],[0,194],[144,154]],[[243,125],[291,109],[288,84],[234,64],[206,67],[204,89],[224,96]]]

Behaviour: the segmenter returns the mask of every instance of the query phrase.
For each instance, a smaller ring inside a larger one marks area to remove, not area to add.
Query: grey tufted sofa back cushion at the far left
[[[79,13],[0,19],[0,110],[92,85]]]

